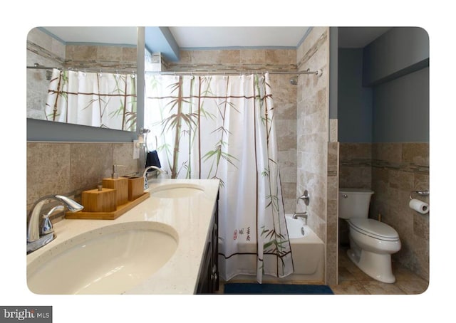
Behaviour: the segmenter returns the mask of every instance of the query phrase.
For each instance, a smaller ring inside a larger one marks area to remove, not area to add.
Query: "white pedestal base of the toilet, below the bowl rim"
[[[371,253],[366,250],[351,248],[347,250],[347,255],[359,269],[373,279],[390,284],[395,282],[390,254]]]

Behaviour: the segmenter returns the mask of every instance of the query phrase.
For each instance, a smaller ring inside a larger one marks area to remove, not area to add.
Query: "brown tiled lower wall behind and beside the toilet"
[[[372,189],[370,217],[398,231],[402,248],[393,254],[416,275],[429,280],[429,217],[413,211],[410,191],[429,190],[428,143],[341,143],[340,186]],[[417,197],[413,195],[413,197]],[[429,196],[418,197],[429,203]],[[339,223],[341,243],[348,228]]]

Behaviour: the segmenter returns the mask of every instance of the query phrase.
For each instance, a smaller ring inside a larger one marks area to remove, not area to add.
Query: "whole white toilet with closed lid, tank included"
[[[368,218],[372,194],[368,189],[339,189],[339,218],[349,227],[347,254],[367,275],[392,283],[391,255],[400,250],[399,235],[388,224]]]

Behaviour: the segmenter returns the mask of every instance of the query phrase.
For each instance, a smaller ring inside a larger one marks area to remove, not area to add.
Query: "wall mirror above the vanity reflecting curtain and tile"
[[[33,28],[27,118],[135,132],[137,44],[137,27]]]

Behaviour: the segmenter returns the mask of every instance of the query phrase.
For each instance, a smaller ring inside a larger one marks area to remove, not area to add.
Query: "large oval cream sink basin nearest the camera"
[[[58,237],[57,237],[58,239]],[[118,223],[64,241],[27,266],[36,294],[122,294],[162,268],[177,249],[164,223]]]

